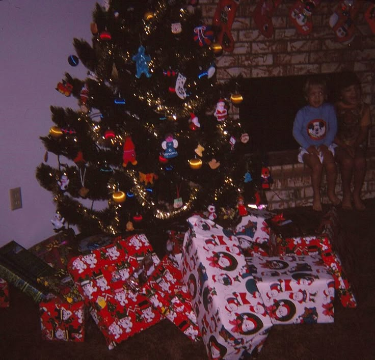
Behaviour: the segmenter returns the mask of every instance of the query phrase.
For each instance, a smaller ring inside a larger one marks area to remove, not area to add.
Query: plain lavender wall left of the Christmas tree
[[[74,37],[91,43],[94,6],[93,0],[0,1],[0,245],[15,240],[29,247],[53,234],[55,206],[35,178],[45,153],[39,136],[52,126],[50,105],[78,107],[55,87],[66,71],[85,77],[85,67],[71,67],[67,58],[75,53]],[[56,161],[50,154],[48,162]],[[9,189],[18,186],[22,208],[12,211]]]

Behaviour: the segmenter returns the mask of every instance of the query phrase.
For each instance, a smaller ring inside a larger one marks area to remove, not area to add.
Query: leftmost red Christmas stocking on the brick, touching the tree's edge
[[[234,49],[231,29],[239,2],[240,0],[219,0],[218,7],[213,15],[213,25],[220,27],[217,42],[220,43],[224,51],[232,52]]]

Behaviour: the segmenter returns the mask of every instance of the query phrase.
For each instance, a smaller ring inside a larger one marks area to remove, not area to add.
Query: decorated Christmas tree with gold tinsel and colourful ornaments
[[[242,101],[238,81],[217,81],[217,29],[192,3],[97,4],[92,45],[74,39],[69,63],[87,78],[66,72],[58,83],[77,102],[51,106],[41,140],[58,167],[46,156],[36,172],[53,193],[56,230],[152,229],[209,205],[224,214],[252,184],[247,134],[228,113]]]

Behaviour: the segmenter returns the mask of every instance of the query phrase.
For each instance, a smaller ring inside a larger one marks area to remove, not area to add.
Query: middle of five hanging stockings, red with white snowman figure
[[[302,35],[308,35],[312,30],[311,15],[320,0],[297,0],[289,10],[289,19],[297,31]]]

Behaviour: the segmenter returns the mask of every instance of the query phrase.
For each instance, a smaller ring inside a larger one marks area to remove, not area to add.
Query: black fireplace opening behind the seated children
[[[251,152],[297,150],[292,127],[298,110],[307,104],[303,85],[312,75],[242,79],[243,102],[239,107],[242,126],[250,136]],[[327,82],[328,102],[337,98],[337,80],[342,74],[322,75]]]

